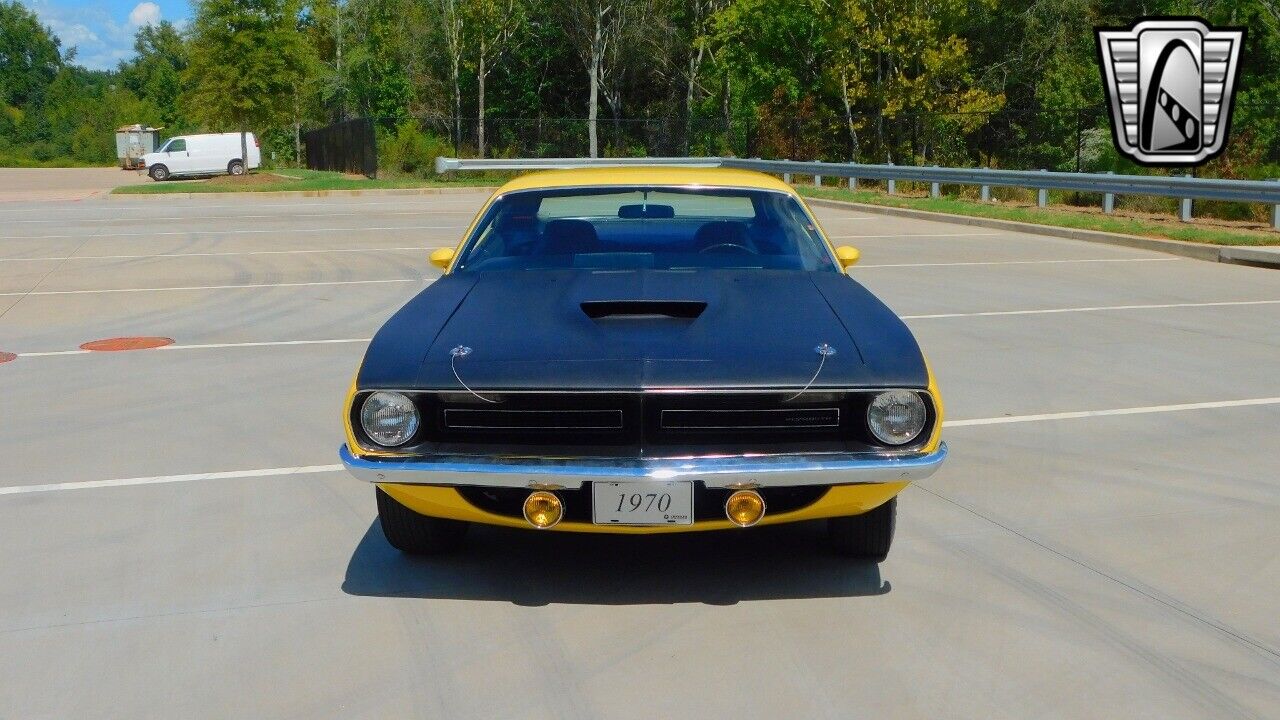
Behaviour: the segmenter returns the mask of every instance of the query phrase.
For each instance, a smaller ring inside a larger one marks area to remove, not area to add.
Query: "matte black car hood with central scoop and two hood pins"
[[[814,387],[924,384],[915,341],[861,286],[759,269],[447,275],[378,333],[360,384],[458,387],[463,346],[477,389],[801,387],[823,343],[836,354]],[[867,361],[864,345],[895,357]]]

